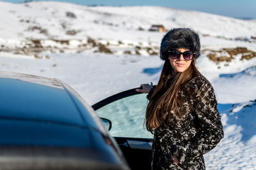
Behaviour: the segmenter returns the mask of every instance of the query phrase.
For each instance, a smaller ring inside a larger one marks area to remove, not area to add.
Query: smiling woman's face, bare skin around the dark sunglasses
[[[189,51],[189,49],[186,49],[186,48],[177,48],[176,50],[178,50],[179,52]],[[177,73],[177,72],[181,73],[185,71],[186,69],[188,69],[192,61],[192,60],[185,60],[183,58],[183,55],[180,55],[179,59],[172,59],[171,57],[168,57],[168,59],[170,60],[170,64],[172,65],[174,73]]]

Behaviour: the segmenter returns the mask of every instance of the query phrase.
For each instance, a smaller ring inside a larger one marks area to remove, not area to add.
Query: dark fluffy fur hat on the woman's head
[[[177,48],[188,48],[195,52],[195,58],[200,56],[200,39],[195,31],[188,28],[176,28],[168,31],[160,46],[160,58],[162,60],[168,59],[168,51]]]

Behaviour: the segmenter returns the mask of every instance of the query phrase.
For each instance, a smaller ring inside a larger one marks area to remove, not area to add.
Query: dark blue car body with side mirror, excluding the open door
[[[130,169],[100,119],[54,78],[0,72],[0,169]]]

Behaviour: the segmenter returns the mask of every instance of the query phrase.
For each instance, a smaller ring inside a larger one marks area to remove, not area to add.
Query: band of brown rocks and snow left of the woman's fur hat
[[[0,43],[0,51],[21,55],[36,55],[41,52],[77,52],[94,50],[100,53],[124,53],[126,55],[159,55],[159,46],[144,45],[141,42],[107,41],[104,39],[24,39],[20,41],[5,41]],[[38,56],[35,57],[40,58]]]

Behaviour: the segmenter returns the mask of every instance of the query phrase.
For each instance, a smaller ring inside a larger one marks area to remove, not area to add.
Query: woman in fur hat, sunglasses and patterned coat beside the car
[[[155,89],[148,92],[145,124],[154,132],[152,169],[205,169],[204,153],[223,138],[211,83],[196,69],[200,39],[191,29],[172,29],[163,37],[164,60]]]

